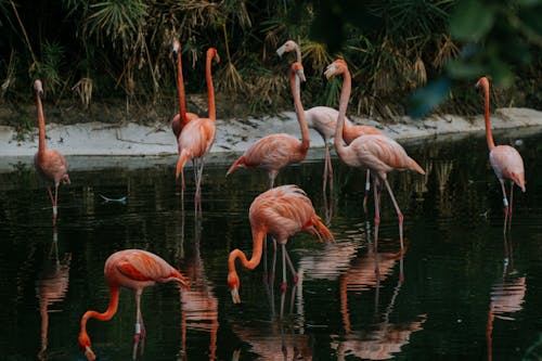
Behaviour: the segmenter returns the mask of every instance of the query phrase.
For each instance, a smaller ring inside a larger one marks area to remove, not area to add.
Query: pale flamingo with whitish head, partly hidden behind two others
[[[276,53],[279,56],[285,52],[296,52],[296,59],[298,63],[301,63],[301,50],[300,47],[294,40],[287,40],[279,49]],[[299,91],[299,89],[298,89]],[[314,129],[320,137],[322,137],[325,146],[325,162],[324,162],[324,176],[323,176],[323,190],[325,194],[325,189],[327,184],[327,179],[330,179],[330,188],[333,190],[333,168],[332,159],[330,153],[330,141],[335,137],[336,121],[338,117],[338,112],[330,106],[314,106],[305,112],[307,118],[307,125],[309,128]],[[356,138],[365,134],[382,134],[382,131],[371,126],[353,125],[348,118],[345,117],[345,127],[343,128],[343,138],[347,144],[350,144]],[[366,201],[370,190],[370,171],[366,171],[365,181],[365,197],[363,198],[363,208],[366,211]]]

